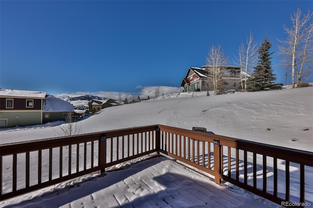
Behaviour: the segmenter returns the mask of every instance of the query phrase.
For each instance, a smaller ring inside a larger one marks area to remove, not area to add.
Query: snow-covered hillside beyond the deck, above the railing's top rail
[[[82,133],[142,125],[206,127],[215,134],[313,151],[313,87],[206,96],[177,93],[105,108]],[[58,126],[1,129],[1,144],[55,137]]]

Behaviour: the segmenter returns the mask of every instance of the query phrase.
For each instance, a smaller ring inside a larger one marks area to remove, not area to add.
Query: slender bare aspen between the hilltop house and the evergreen
[[[246,91],[246,80],[248,73],[252,73],[252,67],[258,59],[258,43],[253,41],[253,35],[250,31],[249,38],[246,36],[246,44],[241,43],[238,49],[238,62],[240,64],[240,83],[242,91]],[[243,77],[243,72],[245,72]],[[245,87],[244,82],[245,80]]]

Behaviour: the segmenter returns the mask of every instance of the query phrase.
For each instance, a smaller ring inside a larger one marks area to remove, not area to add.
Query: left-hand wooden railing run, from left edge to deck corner
[[[156,152],[156,125],[0,145],[0,200]]]

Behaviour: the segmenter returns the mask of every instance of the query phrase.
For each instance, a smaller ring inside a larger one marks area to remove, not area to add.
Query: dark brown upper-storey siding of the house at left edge
[[[32,98],[0,98],[0,109],[6,110],[5,100],[13,99],[13,108],[9,108],[7,110],[41,110],[42,102],[41,99],[32,99]],[[33,100],[34,107],[26,107],[26,100]]]

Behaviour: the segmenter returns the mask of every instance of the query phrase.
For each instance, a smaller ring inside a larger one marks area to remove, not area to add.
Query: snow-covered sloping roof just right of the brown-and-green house
[[[43,112],[74,112],[73,104],[61,100],[53,95],[48,95],[44,100]]]

